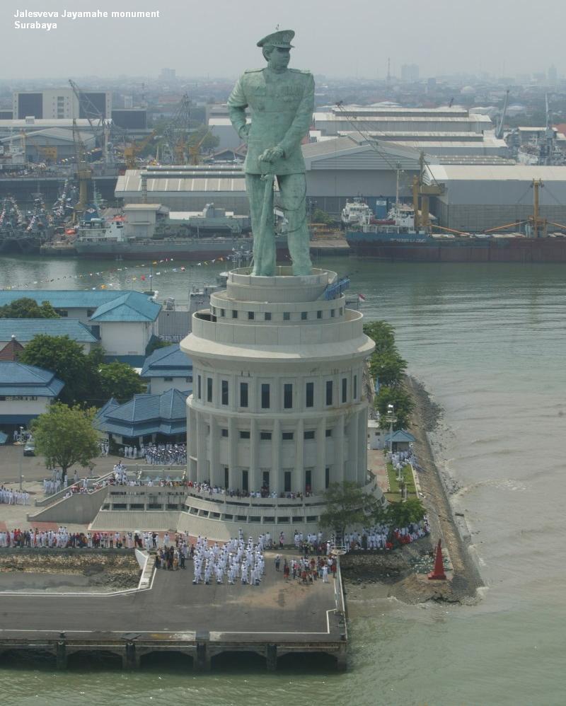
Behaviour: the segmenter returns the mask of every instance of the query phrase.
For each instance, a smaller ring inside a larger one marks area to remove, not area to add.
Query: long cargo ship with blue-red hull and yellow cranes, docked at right
[[[484,233],[463,233],[438,225],[415,228],[415,207],[395,204],[386,219],[366,218],[347,228],[352,254],[387,262],[566,262],[566,226],[550,223],[535,207],[526,221],[491,228]],[[426,214],[428,220],[428,214]],[[509,232],[524,226],[524,232]],[[557,230],[548,232],[548,226]],[[433,228],[444,231],[433,233]],[[500,232],[507,231],[507,232]]]

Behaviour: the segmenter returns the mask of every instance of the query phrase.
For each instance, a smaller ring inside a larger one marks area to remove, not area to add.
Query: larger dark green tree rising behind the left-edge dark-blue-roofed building
[[[59,400],[74,404],[86,400],[95,371],[80,343],[69,336],[34,336],[18,359],[21,363],[50,370],[65,383]],[[95,381],[96,383],[96,381]]]

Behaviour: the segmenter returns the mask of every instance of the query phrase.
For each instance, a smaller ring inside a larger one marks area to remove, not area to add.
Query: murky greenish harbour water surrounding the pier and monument
[[[472,532],[486,584],[481,601],[357,604],[343,674],[327,664],[272,674],[246,659],[207,675],[161,662],[137,673],[92,664],[55,673],[25,661],[0,666],[2,704],[566,702],[566,266],[353,258],[316,265],[349,274],[350,294],[366,296],[364,315],[395,326],[410,373],[443,410],[432,442]],[[186,303],[190,287],[214,284],[225,267],[4,258],[0,287],[146,289],[151,272],[160,299]]]

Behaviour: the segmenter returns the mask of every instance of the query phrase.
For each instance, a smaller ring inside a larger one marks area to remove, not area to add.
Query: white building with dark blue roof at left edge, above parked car
[[[9,432],[44,414],[63,389],[54,373],[13,361],[0,361],[0,428]]]

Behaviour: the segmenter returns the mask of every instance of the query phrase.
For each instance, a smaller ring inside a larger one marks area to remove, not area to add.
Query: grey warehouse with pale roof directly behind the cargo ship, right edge
[[[425,183],[444,185],[444,193],[430,199],[439,225],[471,233],[533,214],[533,179],[543,183],[541,217],[566,224],[566,166],[431,164],[424,171]]]

